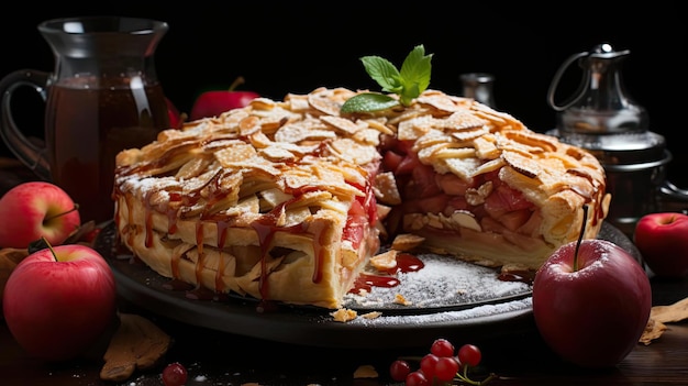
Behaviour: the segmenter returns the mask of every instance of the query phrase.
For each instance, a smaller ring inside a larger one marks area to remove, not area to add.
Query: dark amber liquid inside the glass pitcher
[[[82,223],[113,218],[116,154],[143,147],[169,126],[162,86],[132,79],[95,85],[92,78],[73,78],[49,87],[45,140],[51,175],[79,205]]]

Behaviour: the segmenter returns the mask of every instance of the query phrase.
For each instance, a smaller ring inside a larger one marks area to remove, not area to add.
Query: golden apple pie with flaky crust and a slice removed
[[[398,234],[531,269],[576,240],[584,219],[584,236],[597,236],[611,198],[585,150],[437,90],[342,113],[358,92],[257,98],[121,152],[120,242],[165,277],[335,309]]]

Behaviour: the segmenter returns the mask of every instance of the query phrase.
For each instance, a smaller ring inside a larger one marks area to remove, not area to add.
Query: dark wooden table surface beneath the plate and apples
[[[25,178],[31,174],[11,161],[0,159],[0,195]],[[688,297],[688,279],[651,282],[655,306]],[[174,340],[158,366],[136,372],[119,384],[122,386],[162,385],[162,368],[171,362],[187,367],[187,385],[391,385],[388,367],[395,359],[424,355],[429,350],[342,350],[265,341],[191,327],[124,299],[120,311],[146,317]],[[513,333],[499,331],[496,338],[454,343],[480,346],[481,370],[498,375],[489,385],[688,385],[688,322],[667,324],[659,339],[648,345],[639,343],[620,364],[606,370],[563,363],[542,341],[534,321],[528,323],[530,328]],[[354,378],[354,372],[363,365],[373,366],[378,377]],[[99,355],[60,364],[35,360],[22,351],[4,321],[0,321],[0,385],[115,385],[100,379],[101,367]],[[480,379],[479,375],[475,377]]]

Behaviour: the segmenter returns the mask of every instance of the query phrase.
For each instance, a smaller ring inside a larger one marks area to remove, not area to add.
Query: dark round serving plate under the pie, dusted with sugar
[[[604,223],[599,238],[641,260],[635,245],[617,228]],[[365,297],[347,296],[345,307],[359,317],[337,322],[332,310],[315,307],[276,305],[260,311],[259,302],[252,298],[190,298],[186,290],[169,289],[168,278],[131,254],[115,252],[120,249],[114,243],[110,223],[95,247],[110,263],[124,299],[163,317],[228,333],[300,345],[371,349],[424,346],[437,337],[495,338],[535,329],[531,284],[504,282],[492,268],[447,256],[419,255],[425,267],[400,274],[399,286],[374,287]],[[397,294],[410,304],[395,304]],[[360,317],[374,311],[381,315]]]

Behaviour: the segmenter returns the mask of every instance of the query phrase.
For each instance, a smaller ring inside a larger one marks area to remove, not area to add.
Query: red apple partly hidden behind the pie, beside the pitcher
[[[196,121],[202,118],[218,117],[225,111],[248,106],[259,95],[253,91],[235,91],[236,86],[243,82],[244,78],[238,77],[229,90],[202,92],[193,102],[189,119]]]

